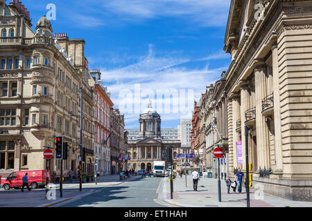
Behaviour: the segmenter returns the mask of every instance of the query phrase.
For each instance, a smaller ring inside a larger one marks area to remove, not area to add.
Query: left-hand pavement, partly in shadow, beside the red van
[[[54,200],[46,200],[45,189],[34,189],[28,191],[24,189],[10,189],[9,191],[0,191],[0,207],[47,207],[64,202],[73,202],[81,198],[97,193],[100,188],[116,186],[125,182],[131,182],[139,179],[141,176],[130,177],[127,180],[119,180],[119,175],[109,175],[100,177],[98,183],[83,183],[83,191],[79,191],[79,183],[64,183],[62,198],[60,198],[59,184],[55,184]]]

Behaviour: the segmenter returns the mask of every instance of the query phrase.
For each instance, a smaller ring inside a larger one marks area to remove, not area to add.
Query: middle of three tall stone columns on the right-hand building
[[[256,103],[256,134],[257,134],[257,159],[258,166],[261,169],[270,165],[268,162],[267,142],[268,130],[266,126],[266,117],[262,115],[262,100],[266,97],[266,64],[261,64],[254,68],[255,77],[255,103]]]

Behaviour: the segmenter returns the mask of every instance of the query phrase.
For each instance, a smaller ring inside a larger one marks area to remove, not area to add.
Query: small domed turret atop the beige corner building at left
[[[37,22],[36,26],[36,35],[35,35],[35,41],[36,42],[41,42],[41,43],[49,43],[51,44],[53,41],[52,37],[52,25],[49,19],[44,17],[40,18],[39,21]]]

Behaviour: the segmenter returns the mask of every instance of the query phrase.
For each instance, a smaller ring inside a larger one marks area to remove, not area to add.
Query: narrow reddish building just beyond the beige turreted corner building
[[[103,86],[100,70],[91,71],[94,81],[92,84],[96,90],[94,97],[94,117],[95,117],[95,143],[94,155],[96,159],[96,171],[100,175],[110,175],[110,110],[114,106],[110,99],[110,93]]]

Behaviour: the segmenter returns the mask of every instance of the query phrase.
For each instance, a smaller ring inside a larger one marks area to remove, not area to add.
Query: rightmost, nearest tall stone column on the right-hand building
[[[279,67],[277,43],[272,46],[272,71],[273,71],[273,100],[275,124],[275,173],[283,173],[283,153],[281,146],[281,108],[279,102]]]

